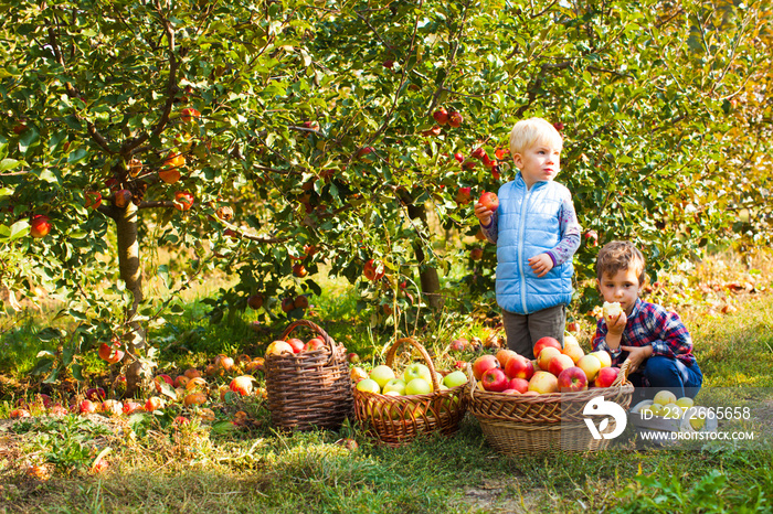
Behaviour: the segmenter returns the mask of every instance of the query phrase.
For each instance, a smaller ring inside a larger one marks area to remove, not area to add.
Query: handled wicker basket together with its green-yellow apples
[[[394,373],[398,349],[419,351],[424,363],[409,364],[402,379]],[[452,435],[465,415],[467,377],[462,371],[437,373],[423,345],[412,338],[400,339],[386,353],[385,364],[375,366],[354,387],[354,415],[382,442],[398,447],[420,433]]]

